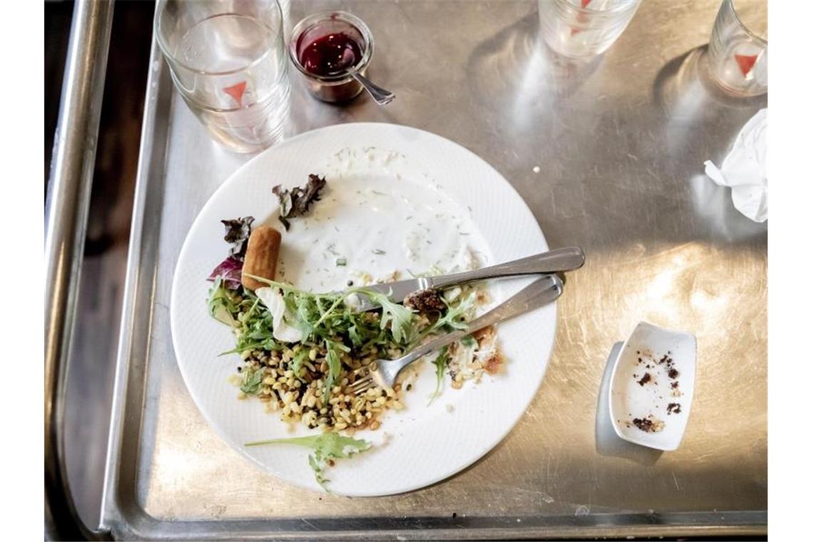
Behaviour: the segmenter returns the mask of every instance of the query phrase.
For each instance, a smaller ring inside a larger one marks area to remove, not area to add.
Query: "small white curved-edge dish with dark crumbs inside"
[[[675,450],[689,421],[697,365],[697,339],[641,322],[615,359],[610,416],[622,439]]]

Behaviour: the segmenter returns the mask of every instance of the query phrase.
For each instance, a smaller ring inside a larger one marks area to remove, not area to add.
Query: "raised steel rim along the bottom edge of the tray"
[[[765,511],[486,518],[333,518],[160,522],[128,518],[120,540],[567,540],[764,535]]]

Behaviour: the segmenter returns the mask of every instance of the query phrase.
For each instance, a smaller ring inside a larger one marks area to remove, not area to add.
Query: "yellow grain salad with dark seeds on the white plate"
[[[238,312],[235,323],[245,323],[246,315],[251,318],[250,310],[256,305],[245,301],[246,298],[234,295],[237,306],[249,307],[245,312]],[[461,299],[455,305],[450,321],[461,325],[471,319],[476,307],[487,299],[476,288],[459,288],[452,292]],[[479,301],[478,301],[479,300]],[[446,301],[448,302],[448,301]],[[454,302],[454,301],[453,301]],[[256,301],[254,301],[256,303]],[[441,317],[427,314],[411,313],[413,329],[419,336],[428,337],[433,333],[428,330],[442,330],[438,326]],[[459,314],[458,318],[454,318]],[[380,314],[364,313],[361,318],[373,328],[380,329]],[[250,340],[249,327],[235,325],[234,333],[237,344]],[[391,333],[385,330],[385,336]],[[332,336],[330,341],[344,345],[341,336]],[[352,340],[348,341],[352,345]],[[328,343],[330,344],[330,343]],[[395,344],[393,342],[393,344]],[[256,397],[269,414],[278,414],[285,423],[302,423],[309,428],[320,428],[322,431],[346,431],[352,434],[359,429],[376,430],[380,427],[380,417],[387,410],[399,411],[404,408],[403,393],[411,391],[415,372],[407,371],[402,380],[393,388],[373,387],[356,396],[350,392],[350,385],[367,373],[367,367],[381,358],[398,358],[406,352],[405,348],[393,345],[381,346],[367,344],[359,349],[329,349],[323,342],[305,340],[298,344],[283,345],[280,349],[250,348],[241,350],[241,366],[233,375],[232,383],[239,386],[237,397],[246,400]],[[330,374],[328,357],[335,353],[341,364],[341,377],[333,378]],[[437,366],[441,354],[429,356]],[[438,392],[441,379],[450,377],[450,387],[459,389],[468,379],[479,380],[485,373],[499,371],[502,356],[496,348],[496,332],[493,327],[486,328],[450,346],[446,352],[446,363],[440,367]],[[328,388],[328,381],[333,380]],[[329,390],[329,391],[328,391]]]

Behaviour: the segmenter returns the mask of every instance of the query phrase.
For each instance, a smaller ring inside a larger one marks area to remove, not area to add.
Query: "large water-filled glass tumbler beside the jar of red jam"
[[[230,150],[282,137],[288,59],[277,0],[159,0],[155,36],[181,97]]]

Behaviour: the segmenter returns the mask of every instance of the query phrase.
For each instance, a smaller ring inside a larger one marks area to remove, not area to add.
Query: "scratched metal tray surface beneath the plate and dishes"
[[[319,495],[243,460],[185,389],[168,299],[189,225],[250,157],[209,140],[154,56],[103,524],[154,539],[764,532],[767,226],[739,215],[702,163],[724,157],[765,98],[726,100],[694,72],[718,2],[644,2],[584,66],[541,46],[536,2],[293,2],[291,18],[328,6],[371,26],[370,74],[398,99],[328,106],[296,85],[289,133],[380,121],[448,137],[511,181],[551,246],[585,248],[545,382],[483,460],[406,495]],[[698,336],[676,452],[624,445],[597,415],[606,358],[640,320]]]

